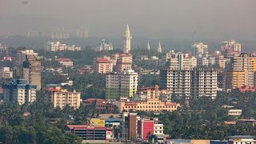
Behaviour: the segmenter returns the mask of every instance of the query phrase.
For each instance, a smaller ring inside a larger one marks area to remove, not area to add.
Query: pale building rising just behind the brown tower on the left
[[[34,50],[20,50],[16,55],[16,64],[22,65],[28,57],[38,58],[38,53],[34,53]]]

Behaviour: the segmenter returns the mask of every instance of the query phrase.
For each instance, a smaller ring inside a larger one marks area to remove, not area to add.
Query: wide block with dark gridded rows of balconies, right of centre
[[[177,69],[164,66],[160,72],[161,89],[179,96],[217,95],[217,70],[214,68]]]

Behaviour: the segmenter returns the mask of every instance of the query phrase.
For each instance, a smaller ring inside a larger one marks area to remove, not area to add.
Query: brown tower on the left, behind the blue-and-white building
[[[30,84],[41,89],[41,61],[39,58],[28,57],[23,62],[23,78]]]

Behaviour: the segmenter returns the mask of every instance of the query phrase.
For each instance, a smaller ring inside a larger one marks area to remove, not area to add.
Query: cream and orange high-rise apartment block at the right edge
[[[255,87],[256,57],[252,54],[240,54],[231,58],[231,70],[226,76],[227,89],[241,86]]]

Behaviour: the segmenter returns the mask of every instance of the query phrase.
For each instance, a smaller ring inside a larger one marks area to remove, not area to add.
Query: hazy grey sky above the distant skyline
[[[256,40],[255,0],[0,0],[0,34],[44,35],[58,26],[120,38],[126,22],[144,38]]]

